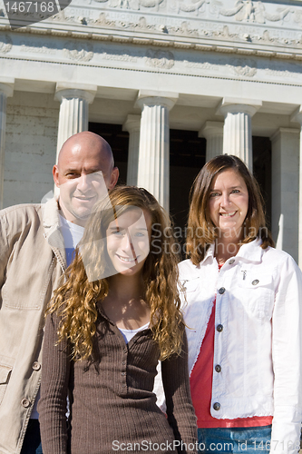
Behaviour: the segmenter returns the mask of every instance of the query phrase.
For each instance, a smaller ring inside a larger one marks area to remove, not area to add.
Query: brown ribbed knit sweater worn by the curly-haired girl
[[[89,364],[70,360],[67,341],[54,347],[57,327],[58,319],[48,316],[38,406],[44,454],[68,452],[67,393],[72,454],[197,452],[185,334],[180,356],[161,364],[166,418],[152,392],[160,350],[150,329],[138,332],[126,344],[100,306],[93,346],[96,360]]]

